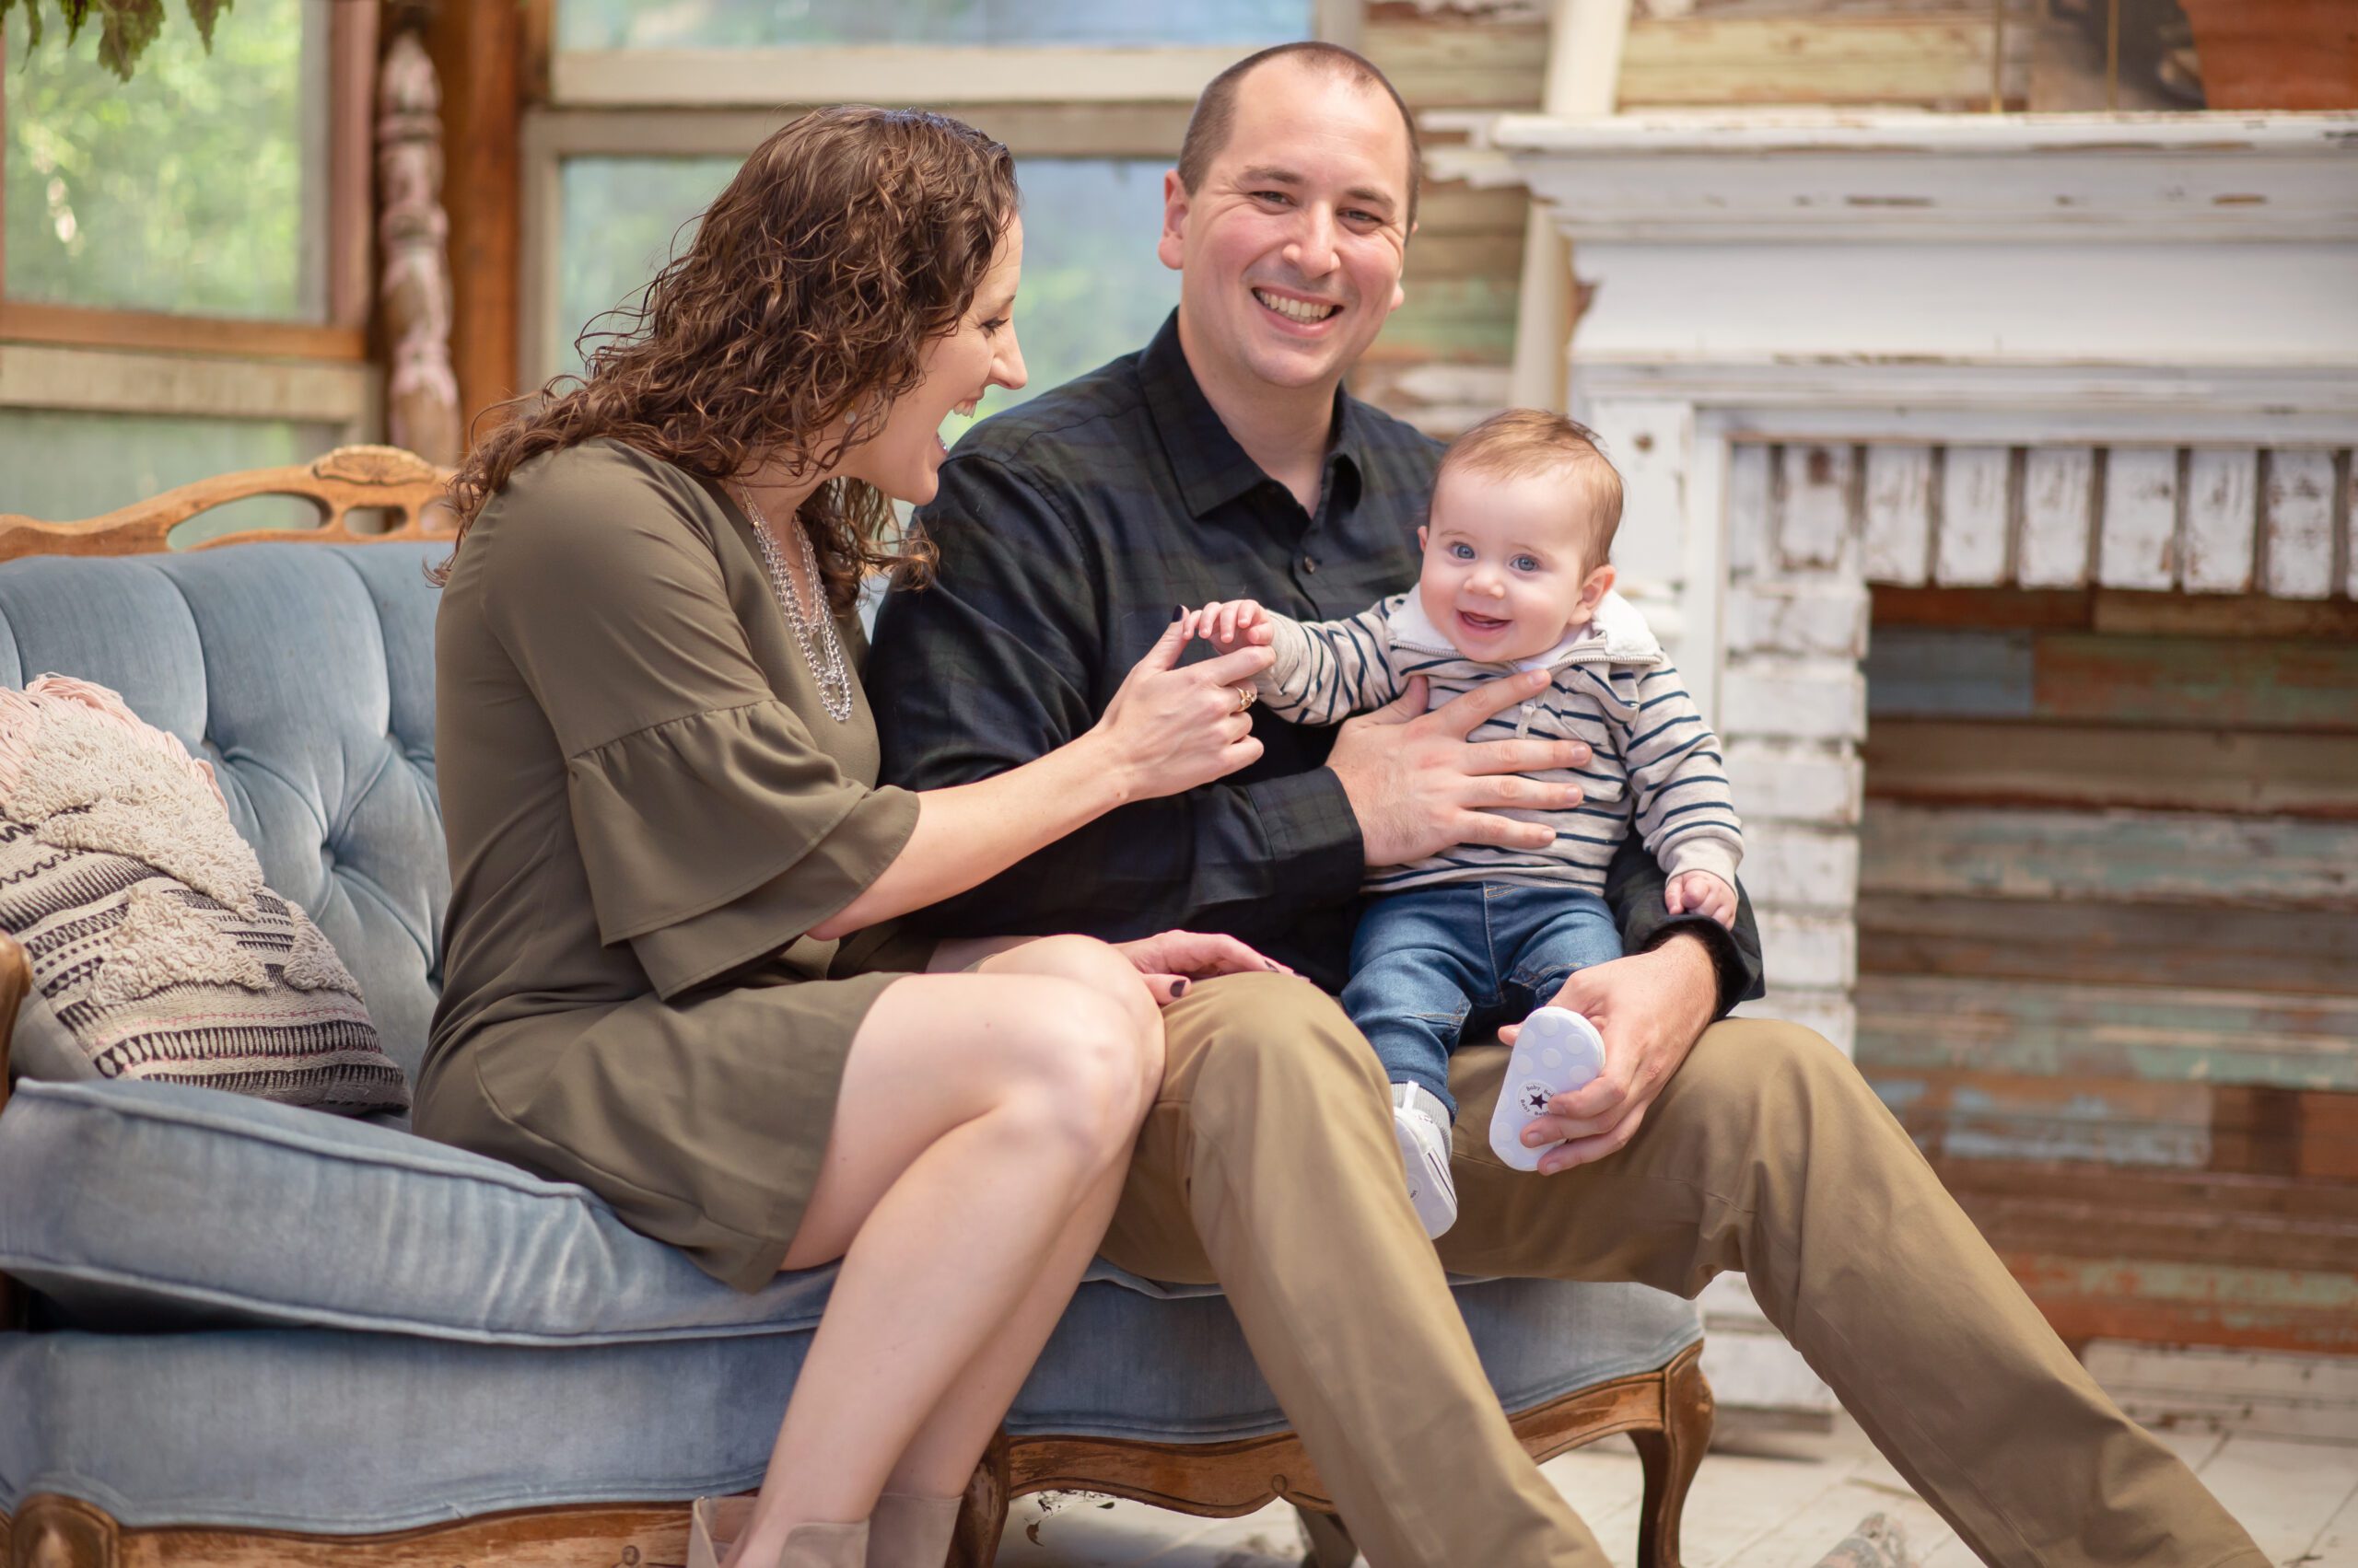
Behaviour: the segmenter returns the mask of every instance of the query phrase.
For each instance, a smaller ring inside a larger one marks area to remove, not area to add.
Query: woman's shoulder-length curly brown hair
[[[818,108],[785,125],[705,210],[686,255],[613,311],[623,325],[592,323],[585,375],[552,380],[467,453],[450,481],[460,542],[521,465],[597,436],[707,479],[837,465],[917,387],[927,344],[971,309],[1014,212],[1014,158],[962,120]],[[891,502],[868,483],[818,486],[799,521],[837,615],[868,573],[929,575],[922,540],[898,549]],[[432,575],[448,580],[450,561]]]

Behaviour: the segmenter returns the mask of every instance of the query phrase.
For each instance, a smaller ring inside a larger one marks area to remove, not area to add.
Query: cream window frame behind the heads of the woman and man
[[[554,7],[528,0],[535,59],[523,111],[519,363],[540,387],[571,342],[556,243],[566,158],[743,158],[821,104],[922,104],[971,118],[1021,158],[1177,160],[1196,94],[1259,45],[823,45],[556,50]],[[1361,0],[1311,0],[1311,38],[1358,45]],[[573,323],[575,330],[580,323]]]

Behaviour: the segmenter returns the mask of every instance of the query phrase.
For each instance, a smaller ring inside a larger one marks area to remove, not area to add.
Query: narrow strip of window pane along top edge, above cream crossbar
[[[1193,45],[1311,35],[1311,0],[559,0],[564,50],[729,45]]]

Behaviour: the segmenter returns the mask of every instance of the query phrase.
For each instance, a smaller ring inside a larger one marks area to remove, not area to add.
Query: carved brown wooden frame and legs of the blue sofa
[[[0,561],[31,554],[151,554],[170,549],[172,526],[252,495],[295,495],[321,509],[311,531],[248,531],[241,542],[375,542],[448,538],[439,509],[443,476],[424,460],[387,446],[347,446],[318,462],[219,474],[149,502],[80,523],[42,523],[0,514]],[[351,526],[354,512],[394,514],[389,528]],[[31,986],[24,950],[0,931],[0,1111],[7,1108],[7,1054],[17,1007]],[[21,1327],[26,1297],[0,1276],[0,1327]],[[1655,1372],[1618,1377],[1516,1412],[1514,1434],[1535,1460],[1629,1434],[1644,1464],[1639,1521],[1641,1568],[1679,1566],[1679,1514],[1712,1436],[1712,1391],[1702,1346],[1691,1344]],[[1356,1547],[1335,1516],[1332,1497],[1295,1434],[1231,1443],[1139,1443],[1118,1438],[1000,1434],[967,1485],[950,1568],[990,1568],[1007,1509],[1016,1497],[1082,1490],[1151,1502],[1212,1518],[1250,1514],[1287,1500],[1302,1509],[1311,1568],[1349,1568]],[[582,1504],[488,1514],[448,1526],[387,1535],[290,1535],[226,1528],[123,1528],[104,1509],[59,1495],[24,1497],[0,1514],[5,1568],[443,1568],[448,1563],[630,1566],[686,1561],[686,1507],[679,1502]]]

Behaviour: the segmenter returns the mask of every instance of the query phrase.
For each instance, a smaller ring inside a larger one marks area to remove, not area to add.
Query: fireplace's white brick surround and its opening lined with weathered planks
[[[1771,1012],[2070,1339],[2358,1353],[2353,500],[2330,448],[1731,453]]]

